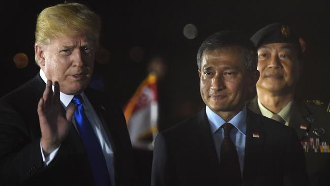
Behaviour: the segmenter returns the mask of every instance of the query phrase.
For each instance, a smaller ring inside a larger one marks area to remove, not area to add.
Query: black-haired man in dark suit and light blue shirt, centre
[[[259,78],[253,43],[215,33],[197,65],[206,108],[157,135],[151,185],[308,185],[294,130],[245,106]]]

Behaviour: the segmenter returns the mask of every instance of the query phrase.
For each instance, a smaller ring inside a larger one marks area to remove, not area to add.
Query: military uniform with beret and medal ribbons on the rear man
[[[251,41],[259,48],[272,43],[291,43],[296,48],[298,59],[302,58],[299,36],[288,25],[273,23],[258,30]],[[253,112],[261,114],[258,99],[247,102]],[[260,106],[261,107],[261,106]],[[317,100],[292,102],[288,126],[294,128],[305,150],[307,172],[311,185],[330,185],[330,105]],[[262,115],[262,114],[261,114]]]

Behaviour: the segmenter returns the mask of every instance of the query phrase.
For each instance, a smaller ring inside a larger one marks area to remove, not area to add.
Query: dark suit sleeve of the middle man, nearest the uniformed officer
[[[297,134],[291,128],[285,150],[284,185],[309,185],[304,151]]]

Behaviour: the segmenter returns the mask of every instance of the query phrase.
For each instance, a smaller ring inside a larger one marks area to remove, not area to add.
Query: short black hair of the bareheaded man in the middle
[[[257,70],[258,54],[252,41],[239,32],[223,30],[212,34],[201,45],[197,52],[197,66],[201,70],[202,57],[205,51],[227,48],[230,46],[239,47],[244,54],[244,65],[250,72]]]

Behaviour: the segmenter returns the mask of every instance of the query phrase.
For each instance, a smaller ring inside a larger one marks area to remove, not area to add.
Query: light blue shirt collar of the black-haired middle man
[[[206,106],[206,115],[210,122],[212,133],[215,133],[224,123],[226,123],[224,119],[222,119],[218,114],[214,113],[208,106]],[[246,106],[244,106],[243,109],[238,114],[236,114],[236,116],[228,121],[244,135],[246,132],[246,115],[247,109]]]

